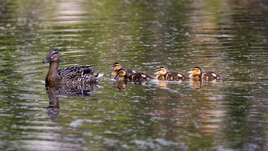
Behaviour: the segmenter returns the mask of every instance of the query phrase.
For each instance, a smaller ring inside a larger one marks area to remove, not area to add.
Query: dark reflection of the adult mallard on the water
[[[46,84],[45,90],[48,93],[49,106],[43,107],[47,115],[51,119],[56,119],[59,115],[60,105],[58,95],[76,95],[76,96],[90,96],[91,91],[96,90],[97,84],[88,85],[56,85]]]

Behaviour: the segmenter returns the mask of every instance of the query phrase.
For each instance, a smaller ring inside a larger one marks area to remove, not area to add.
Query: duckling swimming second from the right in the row
[[[185,80],[185,79],[190,79],[188,76],[185,76],[181,72],[178,71],[168,71],[166,66],[161,66],[157,69],[156,73],[156,79],[159,80]]]

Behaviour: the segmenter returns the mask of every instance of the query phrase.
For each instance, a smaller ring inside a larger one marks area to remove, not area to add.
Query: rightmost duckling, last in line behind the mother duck
[[[220,80],[225,79],[226,77],[220,76],[218,73],[213,71],[202,71],[202,68],[200,66],[196,66],[192,69],[192,71],[189,71],[187,73],[190,73],[189,77],[191,79],[205,79],[205,80]]]

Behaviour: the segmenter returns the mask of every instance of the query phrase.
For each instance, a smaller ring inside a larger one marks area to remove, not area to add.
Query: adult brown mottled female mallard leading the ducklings
[[[72,66],[68,68],[59,69],[60,55],[59,51],[52,48],[47,53],[47,58],[43,63],[49,62],[49,71],[45,78],[46,84],[88,84],[95,83],[96,80],[103,76],[103,72],[96,73],[92,71],[91,66]]]

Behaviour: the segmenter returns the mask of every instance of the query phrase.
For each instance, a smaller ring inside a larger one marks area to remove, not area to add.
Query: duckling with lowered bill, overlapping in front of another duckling
[[[136,73],[133,73],[133,74],[127,76],[127,71],[125,69],[119,69],[117,71],[117,75],[114,79],[116,79],[117,76],[119,76],[121,80],[132,80],[132,81],[144,81],[144,80],[155,79],[144,72],[136,72]]]

